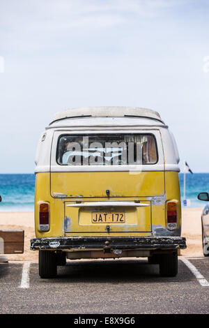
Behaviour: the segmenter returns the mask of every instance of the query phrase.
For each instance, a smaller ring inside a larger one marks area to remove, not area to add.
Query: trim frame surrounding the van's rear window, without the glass
[[[72,131],[70,131],[72,132]],[[148,166],[148,165],[157,165],[157,163],[159,162],[159,154],[158,154],[158,147],[157,147],[157,140],[156,140],[156,137],[153,133],[127,133],[127,132],[124,132],[124,133],[111,133],[113,135],[151,135],[154,140],[155,140],[155,149],[156,149],[156,155],[157,155],[157,161],[155,163],[146,163],[146,164],[141,164],[140,166],[144,167],[144,166]],[[58,161],[57,161],[57,158],[58,158],[58,149],[59,149],[59,140],[61,139],[61,137],[65,137],[65,136],[68,136],[68,135],[73,135],[73,136],[79,136],[79,135],[82,135],[84,137],[88,137],[88,135],[98,135],[98,133],[63,133],[61,135],[59,135],[59,137],[57,138],[56,140],[56,164],[61,166],[61,167],[91,167],[93,165],[68,165],[68,164],[59,164]],[[109,133],[100,133],[99,135],[109,135]],[[133,166],[136,166],[137,164],[134,164]],[[107,165],[97,165],[97,167],[104,167],[104,166],[107,166]],[[108,165],[110,167],[121,167],[122,165]],[[130,165],[123,165],[123,166],[130,166]],[[102,170],[101,170],[102,171]]]

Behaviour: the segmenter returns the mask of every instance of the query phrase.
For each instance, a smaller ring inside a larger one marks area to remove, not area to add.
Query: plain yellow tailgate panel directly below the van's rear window
[[[164,194],[164,172],[52,172],[51,195],[143,197]]]

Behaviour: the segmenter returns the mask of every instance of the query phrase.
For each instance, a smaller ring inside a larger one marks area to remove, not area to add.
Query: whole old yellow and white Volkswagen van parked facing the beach
[[[176,276],[181,207],[176,142],[160,114],[86,107],[55,115],[36,154],[41,278],[66,258],[145,257]]]

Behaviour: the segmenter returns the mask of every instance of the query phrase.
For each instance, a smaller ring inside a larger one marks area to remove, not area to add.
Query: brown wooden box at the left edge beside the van
[[[24,253],[24,230],[0,230],[4,254]]]

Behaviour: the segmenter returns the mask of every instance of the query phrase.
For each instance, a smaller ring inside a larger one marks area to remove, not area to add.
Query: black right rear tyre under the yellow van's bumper
[[[175,277],[178,274],[177,252],[160,255],[160,276]]]

